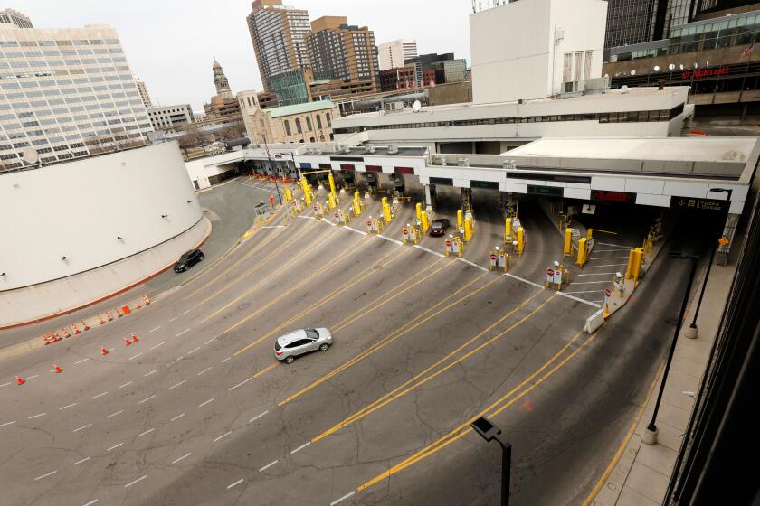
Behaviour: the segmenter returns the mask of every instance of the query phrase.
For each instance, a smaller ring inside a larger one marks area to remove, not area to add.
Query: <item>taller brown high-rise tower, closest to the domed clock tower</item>
[[[271,76],[309,67],[304,35],[311,30],[309,12],[282,5],[280,0],[256,0],[246,18],[253,51],[265,89]]]

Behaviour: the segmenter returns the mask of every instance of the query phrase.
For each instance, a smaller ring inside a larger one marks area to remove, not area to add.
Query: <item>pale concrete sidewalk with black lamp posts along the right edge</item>
[[[702,266],[702,276],[704,269]],[[713,266],[710,271],[705,299],[698,315],[698,337],[688,339],[689,323],[697,306],[698,289],[692,295],[687,317],[679,335],[668,381],[657,416],[659,435],[656,445],[641,440],[651,420],[662,376],[662,367],[652,383],[645,403],[622,445],[596,484],[584,506],[656,506],[662,504],[670,476],[679,454],[681,441],[687,431],[702,376],[707,369],[709,353],[717,327],[726,305],[736,264]],[[701,286],[698,279],[696,285]],[[670,337],[669,337],[670,339]]]

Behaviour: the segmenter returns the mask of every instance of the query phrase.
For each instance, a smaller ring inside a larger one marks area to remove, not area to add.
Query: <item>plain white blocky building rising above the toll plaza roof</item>
[[[472,101],[551,97],[601,77],[606,16],[603,0],[531,0],[470,14]]]

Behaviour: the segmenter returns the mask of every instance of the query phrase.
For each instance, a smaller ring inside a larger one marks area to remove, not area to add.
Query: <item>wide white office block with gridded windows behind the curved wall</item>
[[[43,164],[146,142],[153,131],[113,28],[0,24],[0,164]]]

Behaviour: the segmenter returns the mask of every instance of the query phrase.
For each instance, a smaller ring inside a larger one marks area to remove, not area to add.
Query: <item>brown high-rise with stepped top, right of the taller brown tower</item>
[[[348,24],[345,16],[323,16],[311,23],[305,40],[311,70],[318,80],[312,87],[312,96],[337,98],[377,90],[377,52],[372,30]]]

